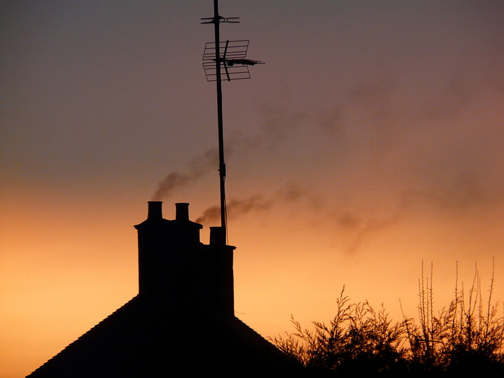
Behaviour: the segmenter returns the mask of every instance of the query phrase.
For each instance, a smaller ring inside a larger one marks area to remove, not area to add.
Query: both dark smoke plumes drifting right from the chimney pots
[[[233,151],[239,151],[241,154],[258,149],[274,148],[286,140],[293,129],[307,121],[309,124],[316,124],[321,130],[334,132],[336,135],[333,136],[338,137],[335,140],[350,139],[341,146],[342,151],[348,153],[350,157],[355,153],[353,148],[356,146],[356,151],[358,148],[368,148],[372,152],[385,151],[386,154],[393,156],[394,161],[399,160],[397,156],[409,159],[410,150],[414,151],[417,148],[416,142],[411,141],[425,137],[422,134],[424,129],[415,128],[415,125],[425,120],[444,117],[445,113],[455,112],[470,102],[478,89],[471,83],[458,83],[452,80],[440,86],[440,94],[430,94],[415,102],[410,101],[409,92],[400,85],[396,85],[393,80],[379,80],[349,88],[341,99],[323,111],[317,109],[295,111],[282,105],[265,105],[262,109],[264,121],[258,125],[258,133],[244,136],[239,134],[239,131],[235,131],[235,134],[231,134],[232,136],[226,140],[226,157],[230,157]],[[354,125],[355,119],[363,119],[362,125],[358,132],[350,133],[347,129]],[[426,129],[425,133],[429,130]],[[360,146],[359,141],[367,141],[367,143]],[[352,150],[347,150],[349,148],[347,146],[351,146]],[[426,153],[429,152],[428,148],[426,144]],[[394,153],[396,155],[393,155]],[[434,151],[435,153],[437,150]],[[416,153],[411,155],[416,159]],[[376,156],[373,156],[373,159],[376,160]],[[385,167],[388,167],[386,164],[390,163],[389,160],[376,161],[383,163]],[[180,189],[191,184],[208,171],[217,170],[217,166],[217,151],[210,150],[188,164],[187,173],[175,171],[167,175],[160,183],[154,199],[169,196],[175,188]],[[394,170],[394,166],[392,164],[390,169]],[[367,171],[375,167],[357,166],[356,169]],[[344,250],[349,254],[355,254],[363,249],[363,244],[389,227],[394,227],[404,216],[414,211],[416,206],[433,206],[442,211],[453,212],[483,207],[491,202],[492,193],[488,190],[488,185],[485,185],[485,180],[478,176],[477,167],[473,171],[455,174],[450,172],[451,169],[444,170],[446,174],[442,177],[436,177],[437,174],[432,173],[423,180],[423,183],[415,181],[409,185],[408,182],[404,182],[403,187],[410,187],[408,190],[398,193],[400,190],[397,188],[398,191],[387,194],[395,196],[394,200],[397,201],[395,206],[391,205],[388,214],[376,215],[376,213],[364,213],[355,209],[343,211],[334,205],[328,208],[323,199],[319,199],[323,201],[319,204],[315,201],[309,202],[317,188],[308,190],[291,182],[273,193],[260,192],[246,198],[231,199],[227,203],[227,217],[234,219],[247,213],[266,212],[279,203],[293,203],[299,199],[308,200],[308,202],[303,202],[303,205],[308,205],[313,209],[318,206],[319,216],[325,217],[325,221],[329,219],[334,232],[343,238]],[[435,171],[432,169],[432,172]],[[207,208],[196,219],[196,222],[203,224],[218,221],[220,221],[219,206]]]

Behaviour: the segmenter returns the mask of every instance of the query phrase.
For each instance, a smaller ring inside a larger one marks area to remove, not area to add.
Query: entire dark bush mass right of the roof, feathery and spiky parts
[[[375,311],[367,301],[352,303],[343,287],[329,325],[312,322],[312,330],[303,329],[291,316],[295,332],[269,339],[308,371],[320,375],[502,374],[504,318],[497,316],[497,304],[491,303],[493,284],[492,273],[483,305],[477,269],[467,301],[457,278],[455,298],[435,316],[432,267],[429,281],[422,264],[418,325],[406,316],[392,322],[383,305]]]

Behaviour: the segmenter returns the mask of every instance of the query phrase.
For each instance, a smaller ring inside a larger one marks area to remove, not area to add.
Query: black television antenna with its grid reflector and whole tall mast
[[[237,79],[250,79],[248,66],[264,64],[260,60],[247,59],[248,40],[220,41],[219,25],[221,22],[239,23],[239,17],[224,18],[219,16],[218,0],[214,0],[214,17],[202,18],[202,24],[214,24],[215,42],[205,44],[203,52],[203,69],[207,81],[217,83],[217,120],[219,130],[219,177],[220,177],[220,210],[221,227],[223,229],[224,242],[227,239],[227,214],[226,214],[226,164],[224,163],[224,136],[222,127],[222,76],[227,81]],[[221,55],[221,50],[223,54]]]

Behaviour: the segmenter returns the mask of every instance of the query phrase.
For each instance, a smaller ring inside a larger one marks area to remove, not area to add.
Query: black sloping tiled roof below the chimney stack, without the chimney
[[[30,377],[269,376],[298,371],[236,317],[137,295]]]

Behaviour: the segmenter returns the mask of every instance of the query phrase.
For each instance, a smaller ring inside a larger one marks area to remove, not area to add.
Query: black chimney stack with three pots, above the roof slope
[[[189,204],[175,204],[175,219],[162,216],[162,203],[148,203],[138,230],[139,294],[193,311],[213,307],[234,316],[233,250],[221,227],[200,242],[201,224],[189,219]]]

